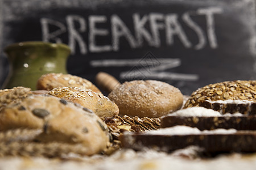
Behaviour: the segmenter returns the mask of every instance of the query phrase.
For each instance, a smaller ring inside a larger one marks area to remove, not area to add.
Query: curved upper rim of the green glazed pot
[[[4,51],[8,52],[9,50],[13,49],[19,49],[19,48],[31,48],[34,46],[42,46],[42,47],[47,47],[47,48],[61,48],[68,50],[69,53],[71,52],[71,49],[69,48],[68,45],[62,44],[62,43],[52,43],[52,42],[46,42],[46,41],[23,41],[23,42],[16,42],[13,44],[10,44],[5,47]]]

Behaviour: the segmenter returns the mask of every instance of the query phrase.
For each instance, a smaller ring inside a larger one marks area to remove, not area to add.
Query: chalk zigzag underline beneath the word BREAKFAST
[[[155,65],[156,62],[159,62]],[[172,79],[196,81],[199,75],[171,73],[164,70],[179,67],[179,58],[157,58],[157,59],[102,59],[92,60],[90,65],[93,67],[123,67],[132,66],[129,71],[122,71],[119,76],[121,79],[148,78],[148,79]]]

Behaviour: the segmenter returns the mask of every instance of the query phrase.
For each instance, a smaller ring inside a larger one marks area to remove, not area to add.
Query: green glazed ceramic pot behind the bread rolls
[[[67,58],[71,50],[65,44],[27,41],[5,48],[10,62],[10,73],[2,88],[16,86],[36,90],[36,82],[43,74],[67,74]]]

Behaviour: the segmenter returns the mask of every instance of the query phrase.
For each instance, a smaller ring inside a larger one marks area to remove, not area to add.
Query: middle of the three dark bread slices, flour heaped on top
[[[204,107],[180,109],[179,111],[161,117],[160,120],[161,128],[184,125],[200,130],[212,130],[217,128],[256,130],[256,117],[254,115],[247,116],[242,113],[221,114],[221,112]]]

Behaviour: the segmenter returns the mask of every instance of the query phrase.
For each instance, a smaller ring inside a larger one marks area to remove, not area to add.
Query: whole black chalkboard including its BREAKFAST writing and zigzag
[[[94,82],[156,79],[190,95],[225,80],[256,78],[254,0],[0,0],[3,47],[63,42],[67,69]]]

